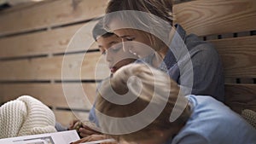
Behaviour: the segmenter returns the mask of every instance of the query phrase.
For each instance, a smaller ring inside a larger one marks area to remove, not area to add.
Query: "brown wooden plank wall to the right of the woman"
[[[218,50],[226,104],[239,113],[245,108],[256,112],[256,1],[180,2],[173,13],[188,33],[212,42]]]

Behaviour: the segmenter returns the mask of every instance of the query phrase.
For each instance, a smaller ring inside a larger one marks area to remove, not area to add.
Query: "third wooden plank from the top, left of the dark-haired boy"
[[[0,61],[0,81],[93,80],[110,75],[108,65],[100,52],[67,55],[63,58],[60,55],[32,60]]]

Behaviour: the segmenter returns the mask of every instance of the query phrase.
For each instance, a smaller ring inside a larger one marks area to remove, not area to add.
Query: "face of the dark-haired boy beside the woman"
[[[129,51],[122,49],[121,39],[116,35],[98,37],[97,44],[102,54],[105,55],[108,67],[112,73],[137,59],[136,55],[132,55]]]

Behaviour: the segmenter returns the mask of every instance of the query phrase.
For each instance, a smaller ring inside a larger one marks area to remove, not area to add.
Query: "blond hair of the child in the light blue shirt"
[[[131,78],[135,76],[139,79],[139,81],[132,81]],[[131,84],[129,84],[129,81]],[[109,83],[110,82],[110,83]],[[138,94],[134,92],[132,89],[137,88],[139,84],[142,84],[141,92]],[[115,98],[115,95],[111,92],[111,90],[118,95],[125,95],[129,90],[132,91],[133,95],[137,96],[135,101],[127,105],[119,105],[114,104],[108,99]],[[153,67],[146,66],[143,64],[130,64],[128,66],[123,66],[113,75],[113,78],[110,78],[110,81],[104,81],[102,83],[102,90],[99,90],[97,94],[96,100],[96,109],[98,112],[102,112],[110,117],[114,118],[126,118],[132,115],[137,114],[138,112],[143,111],[145,107],[148,106],[149,103],[153,102],[154,105],[163,105],[163,110],[159,113],[158,117],[153,120],[152,123],[148,124],[142,130],[138,130],[132,132],[130,134],[121,134],[121,135],[111,135],[116,140],[122,139],[125,141],[137,141],[137,140],[147,140],[152,137],[152,130],[170,130],[172,126],[180,126],[187,122],[190,116],[189,106],[187,106],[184,110],[183,107],[177,107],[182,109],[182,115],[177,118],[176,121],[170,122],[169,118],[172,112],[173,107],[177,102],[177,96],[182,95],[180,93],[180,89],[177,86],[177,83],[174,82],[168,75],[164,72],[160,72],[159,70],[154,69]],[[166,94],[167,101],[163,101],[163,96]],[[102,96],[104,95],[104,96]],[[156,99],[153,100],[153,97],[156,96]],[[182,95],[182,98],[179,98],[183,103],[187,102],[187,99]],[[163,103],[165,102],[165,103]],[[166,105],[165,105],[166,104]],[[181,105],[177,105],[181,106]],[[104,119],[100,118],[97,114],[97,118],[99,118],[99,124],[103,131],[111,131],[111,127],[109,125],[103,125]],[[137,119],[138,121],[147,121],[147,119]],[[132,125],[137,122],[131,122]],[[108,124],[108,123],[107,123]],[[122,125],[119,125],[121,128]],[[105,129],[105,130],[104,130]]]

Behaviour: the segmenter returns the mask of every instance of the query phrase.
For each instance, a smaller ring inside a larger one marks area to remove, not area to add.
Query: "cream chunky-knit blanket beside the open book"
[[[55,115],[41,101],[20,96],[0,107],[0,139],[55,132]]]

